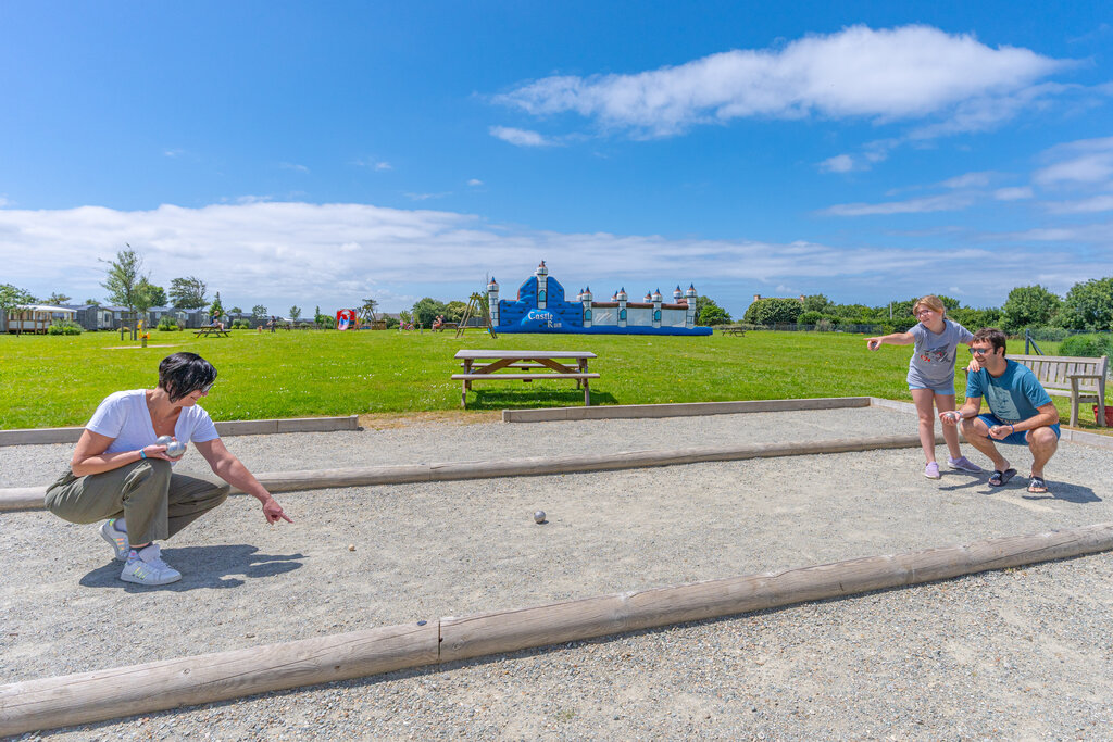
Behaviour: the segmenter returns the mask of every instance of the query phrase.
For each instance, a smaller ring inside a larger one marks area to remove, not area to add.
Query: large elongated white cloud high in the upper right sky
[[[1071,63],[926,26],[854,26],[782,49],[727,51],[677,67],[548,77],[495,100],[533,116],[579,113],[636,136],[669,136],[742,117],[888,121],[955,107],[965,107],[956,126],[977,128],[1014,115],[1025,90]]]

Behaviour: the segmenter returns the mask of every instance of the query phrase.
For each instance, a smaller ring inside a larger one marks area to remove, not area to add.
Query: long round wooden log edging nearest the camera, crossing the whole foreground
[[[1113,523],[0,685],[0,734],[317,685],[1113,550]]]

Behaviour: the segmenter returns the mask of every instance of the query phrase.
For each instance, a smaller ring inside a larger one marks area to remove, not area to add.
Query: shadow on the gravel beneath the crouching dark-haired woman
[[[181,593],[198,588],[239,587],[247,580],[274,577],[293,572],[302,566],[304,554],[259,554],[257,546],[235,544],[230,546],[185,546],[166,548],[162,557],[181,573],[181,580],[169,585],[149,587],[124,582],[120,562],[111,561],[81,577],[85,587],[116,587],[128,593],[162,590]]]

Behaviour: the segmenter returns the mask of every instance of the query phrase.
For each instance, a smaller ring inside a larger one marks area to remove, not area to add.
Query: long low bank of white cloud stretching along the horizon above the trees
[[[384,310],[395,311],[420,296],[466,297],[480,289],[485,273],[498,275],[503,294],[512,296],[542,258],[567,288],[591,285],[597,295],[609,296],[621,285],[640,291],[691,281],[717,300],[733,296],[731,311],[733,305],[745,307],[755,293],[766,293],[764,285],[794,287],[788,294],[828,295],[835,293],[833,286],[844,291],[850,285],[864,287],[860,296],[846,300],[861,300],[877,286],[912,296],[947,286],[971,265],[992,265],[995,284],[1006,290],[1035,280],[1034,266],[1041,276],[1057,277],[1040,280],[1058,293],[1084,277],[1113,275],[1113,250],[1091,247],[1085,261],[1073,251],[1075,245],[1110,247],[1109,224],[984,239],[1017,245],[1009,250],[940,250],[567,234],[491,225],[466,214],[362,204],[0,210],[3,283],[32,294],[102,297],[104,264],[98,258],[111,258],[130,243],[159,285],[197,275],[226,303],[263,304],[273,313],[285,313],[292,304],[319,304],[324,310],[356,306],[371,291]],[[1063,245],[1027,247],[1048,240]]]

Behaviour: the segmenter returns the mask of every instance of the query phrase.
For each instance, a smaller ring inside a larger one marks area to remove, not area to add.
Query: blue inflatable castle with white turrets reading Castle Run
[[[487,284],[487,304],[495,333],[573,333],[591,335],[710,335],[710,327],[696,326],[696,287],[681,291],[678,285],[672,301],[666,303],[660,289],[647,293],[641,301],[630,301],[626,288],[609,301],[595,301],[591,288],[581,290],[575,300],[564,296],[564,287],[549,276],[542,260],[518,289],[513,301],[499,299],[499,284]]]

